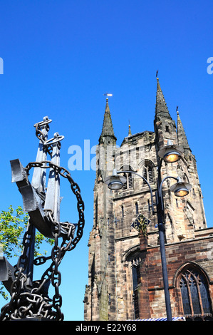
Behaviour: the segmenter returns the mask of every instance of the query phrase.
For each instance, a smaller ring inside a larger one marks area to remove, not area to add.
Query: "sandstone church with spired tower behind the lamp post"
[[[180,114],[177,111],[175,123],[158,78],[154,131],[133,135],[129,126],[120,147],[116,140],[107,98],[96,150],[85,321],[166,316],[157,215],[152,214],[149,187],[131,173],[125,173],[127,180],[118,191],[109,190],[104,180],[112,175],[113,168],[134,171],[147,179],[155,195],[160,159],[157,153],[167,140],[180,145],[183,155],[176,163],[163,162],[161,177],[179,175],[192,185],[187,197],[175,197],[170,191],[174,179],[165,180],[162,189],[172,316],[211,319],[213,229],[207,228],[196,160]],[[147,229],[140,232],[132,227],[139,214],[150,220]]]

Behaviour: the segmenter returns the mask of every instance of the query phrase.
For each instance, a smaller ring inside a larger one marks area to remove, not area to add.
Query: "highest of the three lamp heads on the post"
[[[158,151],[158,155],[166,163],[175,163],[180,160],[183,151],[179,145],[172,145],[171,140],[167,140],[167,145]]]

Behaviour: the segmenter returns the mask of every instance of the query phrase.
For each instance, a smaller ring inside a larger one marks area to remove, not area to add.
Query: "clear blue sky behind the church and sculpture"
[[[207,73],[212,12],[212,0],[0,1],[1,210],[22,205],[9,160],[19,158],[26,166],[36,159],[34,123],[46,115],[53,119],[50,136],[56,131],[65,136],[61,165],[68,168],[71,145],[98,144],[106,91],[113,93],[109,104],[118,145],[128,135],[128,120],[132,133],[153,130],[158,69],[175,120],[179,105],[212,227],[213,74]],[[65,319],[83,320],[95,172],[72,176],[85,202],[85,230],[63,259],[60,292]],[[63,184],[62,220],[75,222],[73,197],[69,202],[71,192]]]

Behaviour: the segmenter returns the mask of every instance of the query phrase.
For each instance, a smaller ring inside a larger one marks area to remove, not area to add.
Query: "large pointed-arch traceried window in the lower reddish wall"
[[[189,266],[182,272],[179,285],[186,318],[212,319],[212,304],[204,274],[198,268]]]

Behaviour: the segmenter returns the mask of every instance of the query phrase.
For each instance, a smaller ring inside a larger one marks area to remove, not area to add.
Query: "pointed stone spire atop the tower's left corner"
[[[105,105],[105,113],[103,118],[103,128],[99,138],[99,143],[104,143],[104,138],[109,137],[108,144],[115,144],[117,138],[115,138],[114,130],[113,130],[113,122],[110,114],[110,108],[108,104],[108,98],[106,98],[106,105]]]

